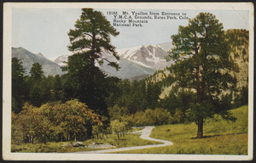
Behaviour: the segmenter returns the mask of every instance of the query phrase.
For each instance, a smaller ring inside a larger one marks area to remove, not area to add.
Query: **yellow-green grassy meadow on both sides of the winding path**
[[[119,153],[130,154],[198,154],[198,155],[247,155],[247,110],[242,106],[231,110],[236,116],[236,122],[225,121],[219,115],[209,119],[204,123],[204,138],[196,137],[197,126],[192,124],[174,124],[156,126],[151,133],[152,138],[160,138],[172,141],[172,146],[139,149]],[[132,131],[141,128],[133,128]],[[102,138],[92,138],[84,141],[84,145],[91,143],[112,144],[116,148],[156,144],[158,142],[148,141],[139,138],[138,134],[126,134],[125,137],[117,138],[116,135],[108,135]],[[62,147],[59,143],[23,143],[12,145],[12,152],[27,153],[70,153],[78,151],[88,151],[84,147]]]

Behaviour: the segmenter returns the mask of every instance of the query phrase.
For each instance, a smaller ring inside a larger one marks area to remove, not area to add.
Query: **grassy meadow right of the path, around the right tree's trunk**
[[[177,124],[156,126],[152,138],[172,141],[172,146],[131,150],[131,154],[197,154],[247,155],[247,106],[231,110],[236,122],[222,120],[218,115],[204,123],[205,138],[195,138],[197,126]]]

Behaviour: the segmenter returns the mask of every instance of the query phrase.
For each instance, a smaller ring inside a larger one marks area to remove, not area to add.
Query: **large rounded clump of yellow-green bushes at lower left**
[[[99,115],[77,99],[65,104],[43,104],[40,108],[25,104],[12,119],[12,136],[20,135],[37,142],[84,140],[90,138],[93,126],[102,126]],[[32,141],[29,141],[32,142]]]

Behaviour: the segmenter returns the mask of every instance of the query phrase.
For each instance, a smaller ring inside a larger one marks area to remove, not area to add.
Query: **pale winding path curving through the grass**
[[[168,145],[172,145],[173,143],[168,140],[162,140],[158,138],[150,138],[150,134],[153,130],[154,126],[146,126],[143,128],[143,130],[137,131],[142,132],[142,135],[140,138],[146,139],[146,140],[152,140],[156,142],[160,142],[160,144],[152,144],[152,145],[143,145],[143,146],[135,146],[135,147],[125,147],[125,148],[119,148],[119,149],[102,149],[102,150],[92,150],[92,151],[84,151],[84,152],[76,152],[80,154],[103,154],[103,153],[109,153],[109,152],[121,152],[126,150],[135,150],[135,149],[149,149],[154,147],[165,147]],[[136,133],[136,132],[131,132]]]

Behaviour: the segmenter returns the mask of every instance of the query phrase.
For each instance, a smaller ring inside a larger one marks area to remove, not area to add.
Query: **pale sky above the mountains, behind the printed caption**
[[[101,11],[113,23],[109,9],[94,8]],[[113,9],[121,12],[123,10]],[[129,11],[128,9],[126,9]],[[216,15],[226,29],[248,30],[247,10],[147,10],[130,9],[136,12],[178,12],[193,19],[200,12]],[[69,53],[67,32],[74,29],[75,21],[81,14],[80,8],[13,8],[12,10],[12,47],[26,48],[31,52],[43,53],[49,59]],[[116,48],[132,48],[142,45],[155,45],[172,42],[171,36],[177,34],[179,25],[188,25],[188,20],[148,20],[143,27],[116,26],[119,36],[111,37]]]

